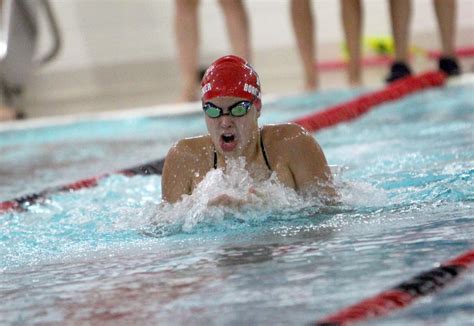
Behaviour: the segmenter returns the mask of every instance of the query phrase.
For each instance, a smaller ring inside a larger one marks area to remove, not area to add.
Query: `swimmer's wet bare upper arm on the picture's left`
[[[191,194],[191,154],[183,142],[178,142],[168,152],[161,176],[162,199],[168,203],[181,200],[185,194]]]

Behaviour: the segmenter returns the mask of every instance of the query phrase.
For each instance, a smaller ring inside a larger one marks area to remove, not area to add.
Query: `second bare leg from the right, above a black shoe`
[[[410,0],[390,0],[390,18],[395,44],[395,61],[408,62]]]

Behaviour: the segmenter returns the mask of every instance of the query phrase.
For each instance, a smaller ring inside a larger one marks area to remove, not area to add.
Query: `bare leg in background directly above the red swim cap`
[[[220,0],[219,3],[224,12],[232,51],[251,61],[249,20],[242,0]]]

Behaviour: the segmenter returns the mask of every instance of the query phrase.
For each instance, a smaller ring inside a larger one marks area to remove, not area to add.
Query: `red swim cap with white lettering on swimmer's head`
[[[227,55],[214,61],[201,81],[202,100],[218,96],[242,97],[254,101],[257,110],[262,107],[260,79],[244,59]]]

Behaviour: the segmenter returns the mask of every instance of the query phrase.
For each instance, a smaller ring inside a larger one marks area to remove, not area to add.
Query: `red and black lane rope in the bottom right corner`
[[[421,273],[387,291],[344,308],[316,322],[316,325],[347,325],[370,318],[386,316],[414,300],[440,290],[467,268],[474,265],[474,250]]]

